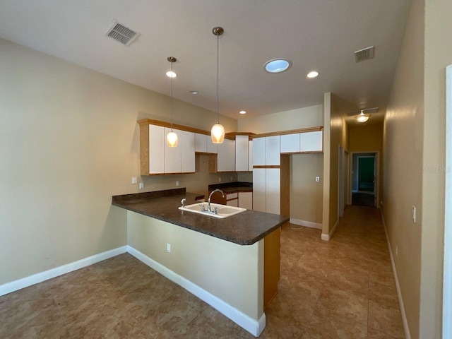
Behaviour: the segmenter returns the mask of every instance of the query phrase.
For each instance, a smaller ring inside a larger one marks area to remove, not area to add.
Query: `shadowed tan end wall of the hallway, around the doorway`
[[[377,151],[379,157],[379,194],[377,194],[377,207],[379,197],[383,192],[383,124],[367,124],[349,127],[349,151],[369,152]],[[351,167],[350,167],[351,168]]]

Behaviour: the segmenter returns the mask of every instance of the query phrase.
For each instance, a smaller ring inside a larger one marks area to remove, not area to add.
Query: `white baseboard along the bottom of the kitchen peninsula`
[[[237,323],[237,325],[244,328],[252,335],[258,337],[262,333],[263,329],[266,327],[265,313],[258,320],[252,319],[251,317],[244,314],[242,311],[235,309],[230,304],[227,304],[218,297],[215,297],[215,295],[212,295],[210,292],[207,292],[198,285],[191,283],[190,280],[187,280],[181,275],[174,273],[172,270],[169,270],[169,268],[162,266],[162,264],[157,263],[157,261],[153,260],[152,258],[149,258],[140,251],[133,249],[133,247],[127,246],[127,251],[129,252],[129,254],[137,258],[139,261],[145,263],[145,265],[149,266],[150,268],[153,268],[153,270],[156,270],[158,273],[165,276],[165,278],[168,278],[172,282],[177,283],[177,285],[184,287],[184,289],[189,291],[192,295],[195,295],[199,299],[203,300],[203,302],[206,302],[211,307],[219,311],[221,314],[224,314],[225,316],[227,316],[227,318],[234,321],[234,323]]]

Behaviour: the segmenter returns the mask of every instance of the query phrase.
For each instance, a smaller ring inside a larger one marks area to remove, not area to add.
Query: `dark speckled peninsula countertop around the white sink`
[[[202,197],[202,194],[186,193],[185,189],[170,189],[113,196],[112,205],[239,245],[254,244],[289,221],[285,215],[256,210],[220,219],[178,209],[182,198],[190,205]]]

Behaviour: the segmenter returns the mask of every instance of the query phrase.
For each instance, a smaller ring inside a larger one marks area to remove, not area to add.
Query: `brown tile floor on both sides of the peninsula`
[[[260,338],[405,338],[379,210],[333,239],[283,227],[279,293]],[[254,338],[129,254],[0,297],[0,338]]]

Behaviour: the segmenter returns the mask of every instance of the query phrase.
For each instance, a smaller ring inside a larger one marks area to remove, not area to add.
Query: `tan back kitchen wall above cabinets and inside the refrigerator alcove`
[[[240,119],[238,124],[239,131],[256,134],[323,126],[323,105]],[[323,155],[291,155],[290,218],[322,222],[322,174]],[[249,181],[249,174],[239,174],[239,178]]]

